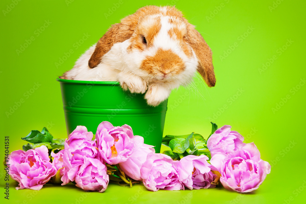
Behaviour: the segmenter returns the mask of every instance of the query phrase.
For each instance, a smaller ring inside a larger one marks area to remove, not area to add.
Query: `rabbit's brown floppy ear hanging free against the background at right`
[[[196,53],[198,58],[197,71],[203,77],[209,87],[214,87],[216,83],[214,66],[212,65],[212,52],[202,35],[192,24],[188,25],[187,41]]]

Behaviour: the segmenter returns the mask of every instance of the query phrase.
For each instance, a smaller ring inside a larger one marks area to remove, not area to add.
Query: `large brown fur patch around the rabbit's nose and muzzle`
[[[181,57],[171,50],[162,50],[160,48],[154,56],[148,56],[142,62],[140,69],[162,77],[164,74],[171,76],[181,73],[185,69],[185,64]]]

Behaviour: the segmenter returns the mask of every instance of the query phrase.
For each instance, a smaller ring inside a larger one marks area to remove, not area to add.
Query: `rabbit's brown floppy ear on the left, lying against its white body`
[[[129,39],[133,34],[133,30],[130,28],[131,26],[125,25],[123,23],[112,25],[112,27],[108,29],[108,31],[102,36],[102,38],[99,39],[98,43],[96,44],[95,51],[88,61],[88,66],[90,68],[98,66],[103,55],[110,51],[110,48],[115,43],[121,43]]]

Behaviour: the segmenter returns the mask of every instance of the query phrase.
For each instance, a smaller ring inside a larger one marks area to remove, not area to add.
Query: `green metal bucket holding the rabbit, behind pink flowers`
[[[123,91],[118,82],[56,79],[61,84],[67,135],[77,125],[95,134],[98,125],[109,121],[114,126],[128,124],[134,135],[160,152],[167,111],[167,100],[148,106],[143,94]]]

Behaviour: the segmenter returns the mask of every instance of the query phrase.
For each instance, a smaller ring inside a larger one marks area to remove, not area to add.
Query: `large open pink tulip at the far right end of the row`
[[[215,154],[211,164],[221,173],[220,181],[226,189],[243,193],[256,190],[271,171],[254,143],[244,144],[241,150],[228,155]]]

